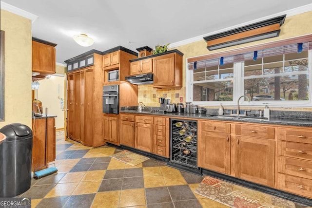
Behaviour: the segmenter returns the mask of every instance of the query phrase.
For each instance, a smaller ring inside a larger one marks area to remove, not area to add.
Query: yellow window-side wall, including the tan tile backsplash
[[[312,34],[312,11],[305,12],[299,15],[286,17],[284,24],[281,26],[281,32],[279,34],[279,37],[276,38],[270,38],[266,40],[260,40],[252,43],[246,43],[241,45],[236,45],[233,47],[228,47],[224,49],[209,51],[207,47],[207,43],[204,39],[200,41],[196,41],[193,43],[185,44],[182,46],[178,46],[176,48],[171,49],[177,49],[181,51],[183,56],[183,86],[186,86],[185,81],[185,61],[186,58],[189,57],[197,57],[197,56],[203,56],[207,54],[213,54],[217,52],[232,50],[236,48],[242,48],[246,46],[251,45],[257,45],[260,43],[265,42],[271,42],[286,38],[293,38],[297,36]],[[166,98],[170,98],[172,103],[179,103],[179,99],[176,98],[176,95],[183,96],[183,102],[186,101],[185,98],[185,91],[186,88],[183,87],[180,90],[167,90],[167,89],[155,89],[153,88],[153,85],[139,85],[138,86],[138,102],[143,102],[146,106],[159,106],[158,103],[158,97],[163,97],[164,94]],[[277,110],[277,109],[276,109]]]

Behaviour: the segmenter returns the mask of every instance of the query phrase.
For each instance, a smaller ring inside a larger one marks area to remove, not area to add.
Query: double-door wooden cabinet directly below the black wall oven
[[[103,116],[104,141],[119,145],[118,140],[118,117]]]

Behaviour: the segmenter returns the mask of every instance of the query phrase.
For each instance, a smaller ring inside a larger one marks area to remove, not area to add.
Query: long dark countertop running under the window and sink
[[[133,111],[119,111],[119,113],[134,113],[141,115],[155,115],[155,116],[168,116],[168,117],[181,117],[181,118],[193,118],[193,119],[206,119],[206,120],[218,120],[218,121],[231,121],[231,122],[244,122],[244,123],[260,123],[260,124],[274,124],[285,126],[299,126],[299,127],[312,127],[312,120],[303,119],[286,119],[271,117],[270,120],[233,120],[227,118],[216,118],[209,116],[210,114],[198,114],[198,113],[149,113],[149,112],[133,112]]]

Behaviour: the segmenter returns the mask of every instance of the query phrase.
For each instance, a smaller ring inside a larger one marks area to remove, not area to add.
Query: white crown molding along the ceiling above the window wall
[[[181,45],[193,43],[193,42],[202,40],[203,37],[206,37],[206,36],[212,36],[212,35],[215,35],[215,34],[218,34],[218,33],[226,32],[226,31],[229,31],[229,30],[233,30],[235,28],[243,27],[243,26],[246,26],[246,25],[249,25],[249,24],[254,24],[254,23],[258,22],[258,21],[264,21],[266,19],[271,19],[271,18],[274,18],[274,17],[277,17],[277,16],[281,16],[281,15],[285,15],[286,14],[286,18],[287,18],[287,17],[291,17],[291,16],[294,16],[294,15],[298,15],[298,14],[309,12],[309,11],[312,11],[312,3],[304,5],[304,6],[300,6],[300,7],[297,7],[297,8],[293,8],[293,9],[290,9],[290,10],[287,10],[287,11],[284,11],[284,12],[279,12],[279,13],[276,13],[276,14],[273,14],[273,15],[270,15],[270,16],[266,16],[266,17],[263,17],[263,18],[254,19],[252,21],[244,22],[242,24],[237,24],[237,25],[234,25],[234,26],[231,26],[231,27],[223,28],[221,30],[217,30],[217,31],[214,31],[214,32],[211,32],[211,33],[207,33],[207,34],[204,34],[204,35],[201,35],[201,36],[196,36],[196,37],[193,37],[193,38],[189,38],[189,39],[181,40],[181,41],[178,41],[178,42],[174,42],[174,43],[171,43],[169,45],[169,47],[170,48],[175,48],[175,47],[178,47],[178,46],[181,46]]]

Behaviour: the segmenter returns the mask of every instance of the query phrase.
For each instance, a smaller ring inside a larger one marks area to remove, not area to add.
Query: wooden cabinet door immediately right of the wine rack
[[[198,137],[198,166],[230,174],[230,134],[201,132]]]

